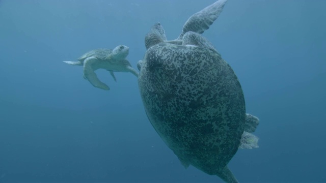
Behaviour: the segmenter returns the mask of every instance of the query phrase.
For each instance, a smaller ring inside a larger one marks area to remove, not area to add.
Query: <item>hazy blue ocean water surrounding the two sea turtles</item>
[[[223,182],[184,169],[145,114],[137,78],[63,60],[130,47],[159,21],[177,38],[214,0],[0,1],[0,182]],[[240,182],[326,182],[326,1],[230,0],[203,34],[237,74],[259,148],[238,150]]]

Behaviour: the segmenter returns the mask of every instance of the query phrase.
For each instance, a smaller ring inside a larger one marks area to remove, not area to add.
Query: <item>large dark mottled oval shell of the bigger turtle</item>
[[[145,54],[139,88],[151,124],[184,165],[216,174],[236,153],[246,109],[221,55],[160,43]]]

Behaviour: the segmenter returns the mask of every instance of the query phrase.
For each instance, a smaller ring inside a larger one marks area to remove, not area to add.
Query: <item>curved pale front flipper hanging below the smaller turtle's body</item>
[[[84,78],[86,78],[93,86],[97,88],[101,88],[104,90],[110,90],[110,87],[108,87],[105,83],[101,82],[97,75],[95,74],[92,66],[96,64],[98,60],[92,56],[89,58],[86,58],[84,61]]]

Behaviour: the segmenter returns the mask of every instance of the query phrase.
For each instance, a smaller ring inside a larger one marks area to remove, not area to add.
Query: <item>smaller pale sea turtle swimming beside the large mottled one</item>
[[[110,71],[111,76],[117,81],[114,72],[131,72],[133,75],[138,77],[138,72],[134,70],[129,61],[126,59],[129,53],[129,47],[119,45],[112,49],[95,49],[91,50],[78,58],[78,61],[63,61],[64,63],[84,66],[84,78],[87,79],[93,86],[110,90],[105,83],[101,82],[95,70],[105,69]]]

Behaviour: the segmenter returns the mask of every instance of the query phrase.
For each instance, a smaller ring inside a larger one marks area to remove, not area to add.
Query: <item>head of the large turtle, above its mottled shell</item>
[[[146,49],[165,41],[167,41],[167,37],[164,28],[159,22],[157,22],[152,26],[151,31],[145,36]]]

